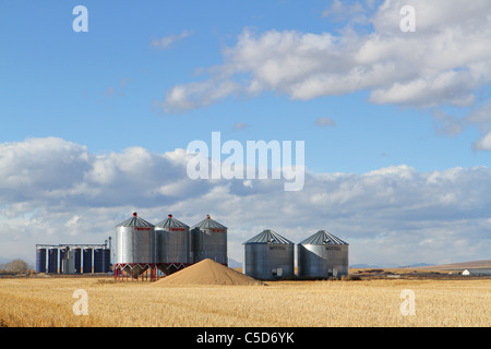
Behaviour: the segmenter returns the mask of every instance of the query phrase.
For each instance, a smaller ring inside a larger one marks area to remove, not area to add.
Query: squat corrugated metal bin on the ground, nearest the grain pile
[[[243,273],[261,280],[295,276],[295,243],[266,229],[246,241]]]

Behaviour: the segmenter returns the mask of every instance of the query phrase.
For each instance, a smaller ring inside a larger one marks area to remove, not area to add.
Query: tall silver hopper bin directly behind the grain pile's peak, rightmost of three
[[[211,258],[228,265],[227,227],[213,220],[209,215],[191,229],[191,263]]]

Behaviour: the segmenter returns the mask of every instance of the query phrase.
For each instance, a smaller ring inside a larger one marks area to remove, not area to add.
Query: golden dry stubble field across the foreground
[[[75,289],[88,316],[75,316]],[[403,289],[416,315],[400,314]],[[0,279],[7,326],[491,326],[491,280],[277,281],[268,286],[157,286],[111,278]]]

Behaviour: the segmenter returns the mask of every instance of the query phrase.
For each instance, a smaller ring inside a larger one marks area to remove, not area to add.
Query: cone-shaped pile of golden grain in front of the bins
[[[208,258],[166,276],[155,285],[262,285],[262,282]]]

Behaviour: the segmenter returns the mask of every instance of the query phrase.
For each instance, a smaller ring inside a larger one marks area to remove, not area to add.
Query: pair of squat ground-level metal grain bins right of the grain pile
[[[266,229],[246,241],[243,273],[262,280],[295,277],[295,243]],[[320,230],[297,245],[299,278],[348,275],[349,245]]]

